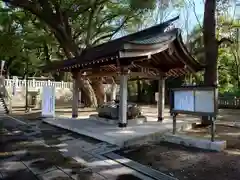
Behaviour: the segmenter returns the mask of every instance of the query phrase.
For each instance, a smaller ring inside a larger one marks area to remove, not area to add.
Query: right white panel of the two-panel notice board
[[[214,92],[209,91],[195,91],[195,111],[212,113],[214,112]]]

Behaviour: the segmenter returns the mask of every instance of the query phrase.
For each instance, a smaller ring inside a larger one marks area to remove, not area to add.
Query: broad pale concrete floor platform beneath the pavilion
[[[116,125],[103,123],[92,119],[46,118],[44,122],[51,125],[89,136],[119,147],[140,145],[161,140],[161,136],[172,131],[172,120],[163,122],[146,122],[119,128]],[[179,121],[177,129],[189,129],[191,121]]]

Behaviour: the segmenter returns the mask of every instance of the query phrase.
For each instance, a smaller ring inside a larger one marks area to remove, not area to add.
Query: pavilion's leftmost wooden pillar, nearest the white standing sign
[[[78,87],[78,73],[73,74],[73,98],[72,98],[72,117],[78,117],[78,100],[79,100],[79,87]]]

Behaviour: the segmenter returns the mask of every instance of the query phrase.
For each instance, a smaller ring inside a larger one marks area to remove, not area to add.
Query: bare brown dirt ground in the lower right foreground
[[[240,151],[238,151],[240,154]],[[240,155],[161,143],[121,155],[179,180],[239,180]]]

